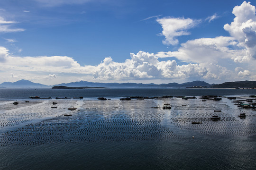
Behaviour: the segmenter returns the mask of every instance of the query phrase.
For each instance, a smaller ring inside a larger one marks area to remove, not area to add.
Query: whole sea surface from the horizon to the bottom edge
[[[254,95],[256,89],[0,89],[0,170],[256,170],[256,111],[234,105],[256,102]],[[144,100],[119,100],[130,96]]]

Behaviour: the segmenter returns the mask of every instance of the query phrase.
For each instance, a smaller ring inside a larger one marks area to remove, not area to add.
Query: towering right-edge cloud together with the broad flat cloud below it
[[[224,29],[230,37],[200,38],[189,40],[177,51],[158,52],[157,57],[176,57],[179,60],[196,63],[218,62],[219,59],[232,59],[236,63],[251,63],[256,59],[256,8],[244,1],[233,8],[235,15],[231,24]],[[211,16],[210,21],[217,16]]]

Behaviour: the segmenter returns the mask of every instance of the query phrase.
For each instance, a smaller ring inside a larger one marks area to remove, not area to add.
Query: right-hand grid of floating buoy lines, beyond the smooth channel
[[[213,100],[202,102],[201,99],[174,100],[172,106],[171,123],[177,127],[206,135],[256,135],[256,111],[251,109],[232,109],[226,105],[226,102]],[[246,118],[238,118],[240,113],[246,113]],[[212,116],[218,116],[220,119],[213,121]],[[201,123],[192,124],[192,122]]]

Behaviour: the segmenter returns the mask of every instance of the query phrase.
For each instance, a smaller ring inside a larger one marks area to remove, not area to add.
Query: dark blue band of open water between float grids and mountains
[[[128,96],[201,96],[256,94],[256,89],[0,89],[0,99],[24,99],[29,96],[41,98],[79,97],[119,98]]]

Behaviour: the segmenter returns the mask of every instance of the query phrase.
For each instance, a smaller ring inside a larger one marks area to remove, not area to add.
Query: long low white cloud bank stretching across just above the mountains
[[[249,68],[245,70],[241,67],[232,71],[212,62],[178,65],[175,60],[159,61],[156,54],[144,51],[130,53],[130,59],[124,62],[115,62],[111,57],[107,57],[96,66],[81,66],[67,56],[15,57],[4,47],[0,48],[0,57],[0,73],[3,79],[24,78],[49,84],[81,79],[101,82],[144,79],[175,79],[180,83],[188,80],[223,82],[252,75],[251,70],[248,74]]]

